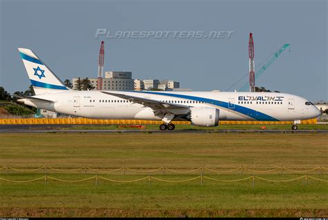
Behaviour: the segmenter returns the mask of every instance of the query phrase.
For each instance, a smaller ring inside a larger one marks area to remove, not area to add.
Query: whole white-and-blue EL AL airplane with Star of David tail
[[[172,121],[210,127],[219,121],[298,121],[321,114],[307,99],[280,92],[71,90],[32,50],[18,50],[35,90],[32,97],[17,96],[19,101],[76,117],[156,120],[163,121],[161,130],[174,130]]]

